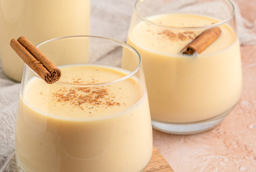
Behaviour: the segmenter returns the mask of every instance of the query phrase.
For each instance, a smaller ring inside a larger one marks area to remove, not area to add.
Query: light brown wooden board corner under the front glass
[[[174,172],[161,153],[153,146],[152,156],[143,172]]]

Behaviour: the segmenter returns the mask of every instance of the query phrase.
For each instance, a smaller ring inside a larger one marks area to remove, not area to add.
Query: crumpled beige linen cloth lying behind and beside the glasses
[[[180,6],[196,0],[182,0]],[[91,0],[91,34],[125,42],[135,0]],[[240,43],[256,44],[256,21],[248,22],[236,7]],[[217,7],[216,7],[217,8]],[[1,10],[1,9],[0,9]],[[14,151],[15,120],[20,83],[8,79],[0,64],[0,172],[20,172]]]

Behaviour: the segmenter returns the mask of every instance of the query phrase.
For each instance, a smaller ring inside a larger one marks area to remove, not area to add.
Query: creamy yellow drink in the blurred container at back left
[[[0,26],[3,72],[21,81],[24,63],[10,40],[25,36],[36,45],[61,36],[89,35],[90,0],[0,0]]]

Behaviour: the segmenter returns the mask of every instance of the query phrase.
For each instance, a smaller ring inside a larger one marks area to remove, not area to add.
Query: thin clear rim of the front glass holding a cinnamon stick
[[[122,44],[123,46],[129,48],[130,50],[132,50],[139,58],[139,63],[137,65],[137,67],[135,68],[135,70],[131,71],[130,73],[128,73],[126,76],[120,77],[118,79],[115,80],[110,80],[110,81],[105,81],[105,82],[100,82],[100,83],[93,83],[93,84],[81,84],[81,83],[70,83],[70,82],[64,82],[64,81],[56,81],[54,84],[60,84],[60,85],[68,85],[68,86],[87,86],[87,87],[93,87],[93,86],[103,86],[103,85],[109,85],[109,84],[114,84],[114,83],[118,83],[120,81],[126,80],[128,78],[131,78],[132,76],[134,76],[138,70],[140,70],[141,68],[141,56],[138,53],[138,51],[133,48],[132,46],[128,45],[127,43],[124,43],[122,41],[118,41],[115,40],[113,38],[108,38],[108,37],[103,37],[103,36],[93,36],[93,35],[74,35],[74,36],[63,36],[63,37],[57,37],[57,38],[53,38],[44,42],[41,42],[39,44],[36,45],[36,48],[39,48],[40,46],[47,44],[49,42],[52,41],[56,41],[56,40],[61,40],[61,39],[65,39],[65,38],[99,38],[99,39],[104,39],[104,40],[111,40],[114,42],[117,42],[119,44]],[[27,67],[37,78],[43,80],[35,71],[33,71],[26,63],[25,63],[25,67]]]

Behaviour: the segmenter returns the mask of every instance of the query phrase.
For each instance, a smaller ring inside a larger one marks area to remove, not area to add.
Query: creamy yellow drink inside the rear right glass
[[[152,119],[189,123],[232,109],[242,88],[236,33],[222,24],[222,33],[215,42],[199,55],[186,56],[180,51],[205,29],[168,26],[207,26],[218,20],[193,14],[156,15],[147,20],[154,24],[131,23],[127,43],[142,57]],[[129,66],[125,56],[122,65]]]

